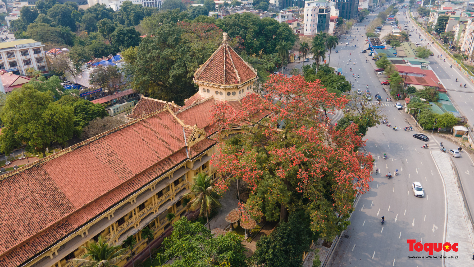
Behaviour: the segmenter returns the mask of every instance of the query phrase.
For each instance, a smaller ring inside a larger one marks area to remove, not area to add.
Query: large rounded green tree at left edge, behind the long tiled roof
[[[32,85],[23,85],[7,96],[0,110],[5,125],[0,135],[1,151],[9,153],[23,142],[31,153],[43,153],[52,142],[67,145],[73,137],[74,111],[54,102],[53,96]]]

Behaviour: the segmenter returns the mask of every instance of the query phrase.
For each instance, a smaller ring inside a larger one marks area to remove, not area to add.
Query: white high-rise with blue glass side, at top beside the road
[[[304,34],[314,35],[329,30],[331,4],[326,0],[307,1],[304,6]]]

